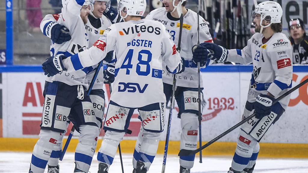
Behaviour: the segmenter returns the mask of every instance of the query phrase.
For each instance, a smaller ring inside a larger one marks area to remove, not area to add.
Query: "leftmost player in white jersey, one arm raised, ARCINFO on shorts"
[[[55,38],[51,35],[55,33],[55,26],[60,28],[66,26],[67,29],[63,28],[63,31],[68,33],[63,32],[64,38],[67,34],[71,35],[72,39],[68,42],[64,42],[66,39],[60,39],[61,44],[51,43],[52,56],[55,54],[69,56],[87,49],[88,38],[84,23],[87,22],[87,15],[90,12],[89,5],[90,3],[84,0],[66,1],[63,3],[61,15],[51,16],[57,18],[58,23],[47,21],[41,25],[43,33],[51,38]],[[46,18],[49,17],[50,15],[46,16]],[[53,39],[53,41],[59,41],[59,39]],[[40,139],[34,146],[29,172],[44,172],[47,162],[51,164],[48,165],[48,172],[59,172],[58,158],[69,121],[80,133],[75,152],[74,172],[88,172],[99,129],[91,100],[84,91],[88,87],[85,76],[86,72],[79,70],[72,73],[63,72],[46,79]]]

